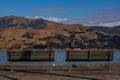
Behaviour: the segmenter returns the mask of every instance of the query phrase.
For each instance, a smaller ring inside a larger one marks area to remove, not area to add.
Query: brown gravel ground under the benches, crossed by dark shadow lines
[[[57,65],[49,72],[46,65],[0,65],[0,80],[120,80],[120,65]]]

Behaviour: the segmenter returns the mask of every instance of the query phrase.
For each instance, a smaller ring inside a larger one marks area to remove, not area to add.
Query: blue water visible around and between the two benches
[[[5,51],[0,51],[0,64],[9,64],[7,61],[7,54]],[[71,61],[70,64],[107,64],[107,61]],[[14,64],[49,64],[49,62],[14,62]],[[55,51],[55,61],[52,64],[68,64],[65,61],[65,51]],[[114,58],[110,61],[110,64],[120,64],[120,51],[114,51]]]

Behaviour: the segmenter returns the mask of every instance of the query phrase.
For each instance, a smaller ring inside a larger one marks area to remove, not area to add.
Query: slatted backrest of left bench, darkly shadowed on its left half
[[[8,61],[54,61],[53,50],[7,51]]]

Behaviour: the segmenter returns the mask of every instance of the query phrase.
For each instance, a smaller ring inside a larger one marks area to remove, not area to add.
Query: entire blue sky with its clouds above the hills
[[[10,15],[112,27],[120,25],[120,0],[0,0],[0,17]]]

